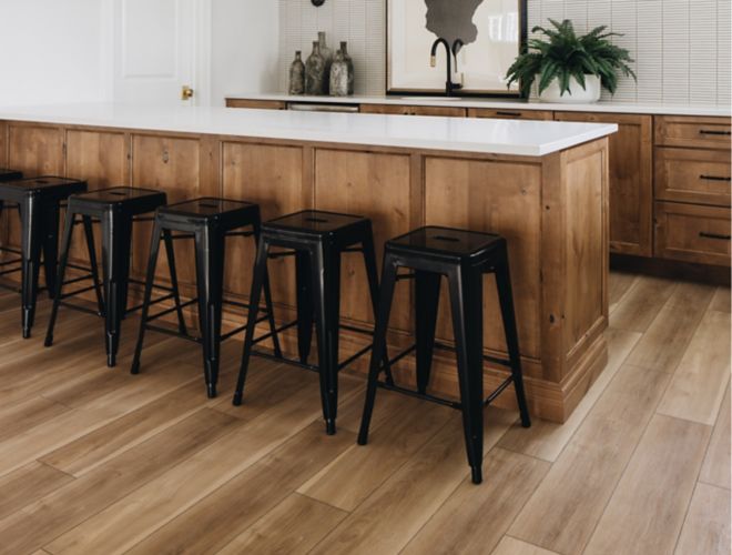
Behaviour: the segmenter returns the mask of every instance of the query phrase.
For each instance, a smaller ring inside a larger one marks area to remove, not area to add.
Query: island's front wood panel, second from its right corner
[[[322,150],[315,152],[315,206],[364,215],[372,220],[376,260],[380,269],[384,243],[407,233],[410,222],[410,159],[408,155]],[[368,282],[359,253],[342,263],[340,315],[373,322]],[[409,329],[409,287],[399,286],[392,326]]]

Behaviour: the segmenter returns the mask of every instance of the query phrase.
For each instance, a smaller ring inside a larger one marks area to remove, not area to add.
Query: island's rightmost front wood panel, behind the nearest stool
[[[499,233],[508,241],[521,353],[539,356],[541,169],[528,163],[428,158],[425,162],[427,225]],[[505,352],[502,320],[492,275],[484,280],[484,341]],[[451,339],[443,285],[438,335]]]

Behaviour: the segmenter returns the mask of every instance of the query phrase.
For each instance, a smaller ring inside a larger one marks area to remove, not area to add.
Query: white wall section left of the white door
[[[0,0],[0,105],[106,94],[100,0]]]

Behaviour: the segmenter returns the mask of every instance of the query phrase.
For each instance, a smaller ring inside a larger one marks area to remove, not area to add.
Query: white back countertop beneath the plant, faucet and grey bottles
[[[409,104],[457,108],[488,108],[494,110],[548,110],[558,112],[598,112],[598,113],[647,113],[657,115],[715,115],[730,117],[729,105],[710,104],[639,104],[624,102],[598,102],[594,104],[549,104],[538,101],[510,99],[471,99],[440,97],[296,97],[283,93],[235,93],[227,99],[277,100],[282,102],[325,102],[339,104]]]

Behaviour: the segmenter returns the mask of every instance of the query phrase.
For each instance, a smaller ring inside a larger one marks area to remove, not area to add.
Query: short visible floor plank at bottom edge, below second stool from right
[[[295,493],[218,553],[305,555],[346,516],[340,509]]]

